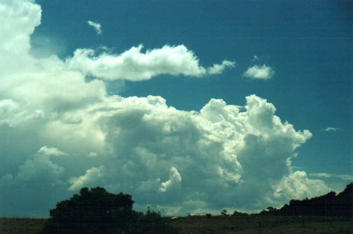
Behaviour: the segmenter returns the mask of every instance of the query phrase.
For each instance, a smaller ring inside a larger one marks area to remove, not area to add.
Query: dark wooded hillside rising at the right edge
[[[353,216],[353,182],[339,194],[331,191],[320,197],[290,200],[280,209],[268,207],[261,215]]]

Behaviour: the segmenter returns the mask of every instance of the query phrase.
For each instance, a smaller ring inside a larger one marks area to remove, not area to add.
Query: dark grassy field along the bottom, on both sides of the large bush
[[[303,223],[304,219],[304,223]],[[280,217],[280,216],[194,216],[168,219],[181,234],[315,234],[353,233],[353,219],[336,217]],[[0,234],[37,234],[45,225],[45,219],[0,218]]]

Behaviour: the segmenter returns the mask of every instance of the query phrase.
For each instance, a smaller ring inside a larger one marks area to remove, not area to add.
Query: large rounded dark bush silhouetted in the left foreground
[[[50,210],[47,233],[158,233],[173,232],[166,218],[159,212],[146,214],[132,209],[134,201],[129,194],[112,194],[104,188],[82,188],[70,200],[57,203]]]

